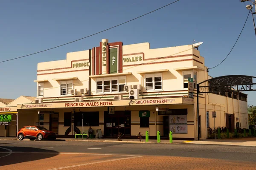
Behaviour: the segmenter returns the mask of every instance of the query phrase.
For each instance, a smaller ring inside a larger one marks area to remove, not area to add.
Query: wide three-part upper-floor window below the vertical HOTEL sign
[[[112,93],[124,91],[126,84],[125,77],[119,78],[106,78],[96,80],[96,92],[97,93]]]

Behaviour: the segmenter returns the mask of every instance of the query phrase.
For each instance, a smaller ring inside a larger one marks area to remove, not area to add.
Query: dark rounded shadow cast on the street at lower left
[[[9,154],[9,150],[12,150],[12,154]],[[53,150],[35,148],[35,147],[5,147],[0,146],[0,166],[10,165],[10,164],[18,164],[22,162],[27,162],[29,165],[29,161],[41,160],[46,158],[51,158],[53,156],[57,156],[58,152]],[[0,168],[1,169],[1,168]]]

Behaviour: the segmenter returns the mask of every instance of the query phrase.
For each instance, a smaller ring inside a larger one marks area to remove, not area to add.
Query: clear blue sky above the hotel
[[[174,1],[174,0],[173,0]],[[171,3],[172,0],[26,0],[2,1],[0,5],[0,61],[51,48],[115,26]],[[213,67],[226,57],[235,43],[248,10],[240,0],[180,0],[138,20],[93,37],[41,54],[0,63],[0,98],[36,96],[38,62],[66,59],[109,42],[124,45],[149,42],[151,48],[204,42],[199,50],[205,64]],[[209,75],[256,76],[256,37],[252,17],[230,56]],[[255,86],[256,89],[256,86]],[[248,104],[256,105],[256,92],[248,93]]]

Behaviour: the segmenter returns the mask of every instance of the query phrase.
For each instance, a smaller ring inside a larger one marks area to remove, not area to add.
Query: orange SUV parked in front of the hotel
[[[56,139],[56,134],[52,131],[47,130],[41,126],[24,126],[17,133],[18,139],[21,141],[24,138],[28,138],[31,141],[38,139]]]

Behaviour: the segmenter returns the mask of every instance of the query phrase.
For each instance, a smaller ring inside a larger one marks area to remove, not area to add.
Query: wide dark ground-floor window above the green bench
[[[99,112],[79,112],[74,114],[75,126],[82,126],[84,113],[84,126],[99,126]]]

